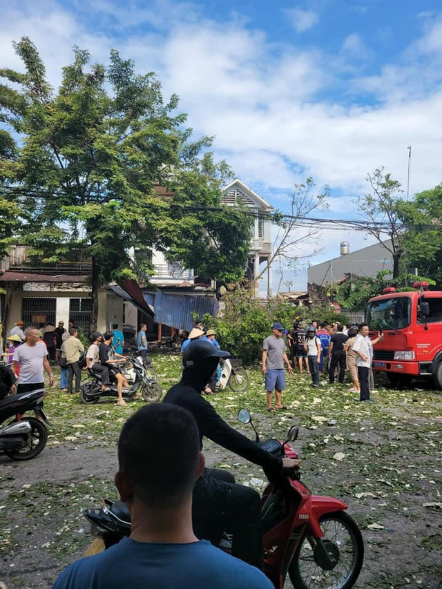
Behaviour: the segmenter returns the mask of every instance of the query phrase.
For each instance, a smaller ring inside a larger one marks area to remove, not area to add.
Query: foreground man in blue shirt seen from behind
[[[186,409],[155,403],[133,414],[119,436],[115,474],[131,535],[71,564],[53,589],[271,589],[260,570],[195,537],[199,450],[198,426]]]

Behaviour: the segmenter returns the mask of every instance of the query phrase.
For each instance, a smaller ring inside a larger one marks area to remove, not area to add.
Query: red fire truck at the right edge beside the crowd
[[[385,338],[374,345],[373,369],[395,384],[430,378],[442,389],[442,291],[428,291],[426,282],[413,286],[389,287],[367,303],[365,320]]]

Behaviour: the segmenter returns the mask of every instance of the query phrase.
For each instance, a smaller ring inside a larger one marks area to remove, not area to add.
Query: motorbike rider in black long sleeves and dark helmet
[[[193,414],[200,432],[242,458],[262,466],[269,479],[278,479],[284,469],[299,467],[298,460],[278,458],[233,429],[215,412],[201,392],[209,382],[219,358],[228,358],[211,342],[198,340],[186,347],[184,371],[163,403],[180,405]],[[263,567],[260,495],[236,485],[229,472],[206,468],[193,489],[193,529],[198,538],[217,543],[225,528],[233,531],[232,554],[258,568]]]

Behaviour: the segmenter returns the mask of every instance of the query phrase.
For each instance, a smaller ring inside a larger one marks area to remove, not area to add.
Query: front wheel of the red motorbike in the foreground
[[[320,527],[323,543],[336,565],[332,570],[320,566],[316,540],[306,534],[289,566],[291,584],[296,589],[348,589],[354,586],[364,560],[364,543],[354,519],[345,512],[323,515]]]

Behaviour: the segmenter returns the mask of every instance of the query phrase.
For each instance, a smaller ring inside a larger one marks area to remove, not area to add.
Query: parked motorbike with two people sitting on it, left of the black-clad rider
[[[138,392],[141,392],[143,398],[148,403],[156,403],[160,400],[163,392],[156,378],[151,378],[151,374],[146,371],[141,356],[128,358],[128,362],[120,367],[124,376],[130,385],[129,389],[123,389],[123,397],[133,400]],[[80,400],[86,405],[97,403],[101,397],[117,397],[117,382],[111,378],[109,390],[102,389],[102,374],[95,371],[94,367],[89,368],[90,377],[80,387]]]

